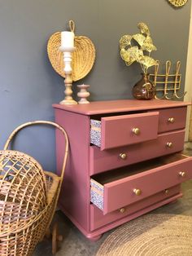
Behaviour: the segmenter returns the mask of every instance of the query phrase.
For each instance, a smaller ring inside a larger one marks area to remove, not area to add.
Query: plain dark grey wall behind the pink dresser
[[[137,64],[126,67],[119,54],[120,37],[137,33],[145,22],[161,61],[181,60],[182,86],[190,25],[190,0],[179,9],[167,0],[0,0],[0,148],[11,130],[25,121],[54,120],[52,104],[63,99],[63,78],[51,67],[46,53],[50,35],[76,23],[76,35],[94,42],[97,58],[87,77],[91,100],[131,99],[140,77]],[[38,138],[38,141],[35,140]],[[15,148],[36,157],[47,170],[55,168],[54,132],[24,130]]]

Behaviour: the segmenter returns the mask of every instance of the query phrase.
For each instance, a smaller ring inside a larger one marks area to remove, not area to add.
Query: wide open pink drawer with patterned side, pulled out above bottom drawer
[[[176,153],[96,174],[90,180],[90,201],[110,213],[191,179],[191,165],[192,157]]]

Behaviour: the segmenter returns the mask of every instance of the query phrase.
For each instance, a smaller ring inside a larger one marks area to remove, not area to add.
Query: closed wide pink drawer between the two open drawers
[[[105,170],[128,166],[139,161],[164,156],[183,150],[185,130],[172,131],[158,135],[143,143],[137,143],[121,148],[111,148],[101,151],[96,146],[90,146],[90,174],[98,174]]]

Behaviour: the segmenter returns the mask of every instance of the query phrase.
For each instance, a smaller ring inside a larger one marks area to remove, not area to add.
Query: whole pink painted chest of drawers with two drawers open
[[[61,210],[92,241],[113,227],[175,201],[192,178],[182,154],[188,103],[112,100],[54,104],[70,143]],[[57,169],[63,138],[56,132]]]

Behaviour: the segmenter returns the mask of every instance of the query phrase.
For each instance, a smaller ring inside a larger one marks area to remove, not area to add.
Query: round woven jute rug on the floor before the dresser
[[[192,217],[146,214],[116,228],[96,256],[191,256]]]

